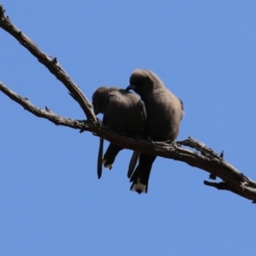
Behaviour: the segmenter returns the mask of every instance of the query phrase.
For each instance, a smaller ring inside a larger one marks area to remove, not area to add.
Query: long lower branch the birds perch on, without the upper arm
[[[96,136],[103,137],[112,143],[119,144],[124,148],[137,150],[146,154],[155,154],[165,158],[178,160],[187,163],[189,166],[195,166],[211,173],[212,176],[223,179],[221,183],[204,183],[217,189],[229,190],[237,195],[241,195],[253,202],[256,201],[256,183],[244,176],[234,166],[224,161],[218,156],[212,148],[207,148],[203,143],[189,137],[187,140],[177,143],[158,143],[148,142],[146,140],[138,140],[133,137],[125,137],[108,130],[102,122],[98,120],[97,125],[90,121],[74,120],[62,118],[49,110],[43,110],[32,105],[25,97],[17,95],[9,90],[3,83],[0,83],[0,90],[15,102],[19,103],[27,111],[38,117],[49,119],[55,125],[64,125],[80,131],[91,131]],[[182,148],[181,145],[195,148],[196,151]]]

